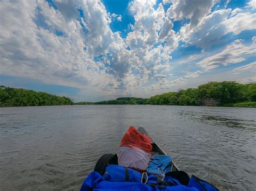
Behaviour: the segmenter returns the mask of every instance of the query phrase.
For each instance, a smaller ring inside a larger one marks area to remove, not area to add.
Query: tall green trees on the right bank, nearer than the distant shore
[[[188,88],[150,97],[148,104],[156,105],[204,105],[205,100],[213,100],[219,106],[232,106],[239,102],[256,101],[256,83],[208,82],[198,88]]]

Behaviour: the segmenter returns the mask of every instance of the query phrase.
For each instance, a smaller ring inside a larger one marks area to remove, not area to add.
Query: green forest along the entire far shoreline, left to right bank
[[[149,104],[256,108],[256,83],[241,84],[234,81],[208,82],[198,86],[198,88],[181,89],[150,98],[119,97],[116,100],[77,103],[73,102],[69,97],[0,86],[0,107],[73,104]]]

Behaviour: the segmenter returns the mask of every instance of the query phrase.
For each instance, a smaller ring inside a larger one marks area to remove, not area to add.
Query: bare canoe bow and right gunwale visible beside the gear
[[[154,155],[167,155],[164,150],[154,141],[154,139],[149,135],[149,133],[147,133],[147,131],[142,127],[140,126],[138,128],[138,131],[140,133],[142,133],[143,135],[147,136],[147,137],[150,137],[151,139],[151,142],[152,142],[152,152],[151,152],[151,155],[154,156]],[[177,165],[173,162],[172,160],[172,167],[171,167],[171,171],[179,171],[179,168],[177,167]]]

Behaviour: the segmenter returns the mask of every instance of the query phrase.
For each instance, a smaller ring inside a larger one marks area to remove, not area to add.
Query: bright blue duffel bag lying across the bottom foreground
[[[182,185],[176,178],[169,175],[165,176],[163,182],[158,182],[153,174],[148,176],[148,180],[142,183],[141,173],[123,166],[108,165],[103,176],[98,172],[90,173],[80,190],[218,190],[209,183],[196,178],[196,176],[192,176],[187,186]]]

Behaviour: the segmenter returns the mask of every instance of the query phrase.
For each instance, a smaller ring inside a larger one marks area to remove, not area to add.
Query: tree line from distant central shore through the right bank
[[[228,107],[256,107],[256,83],[240,84],[233,81],[208,82],[198,88],[155,95],[150,98],[120,97],[101,102],[76,104],[152,104],[152,105],[207,105]]]

